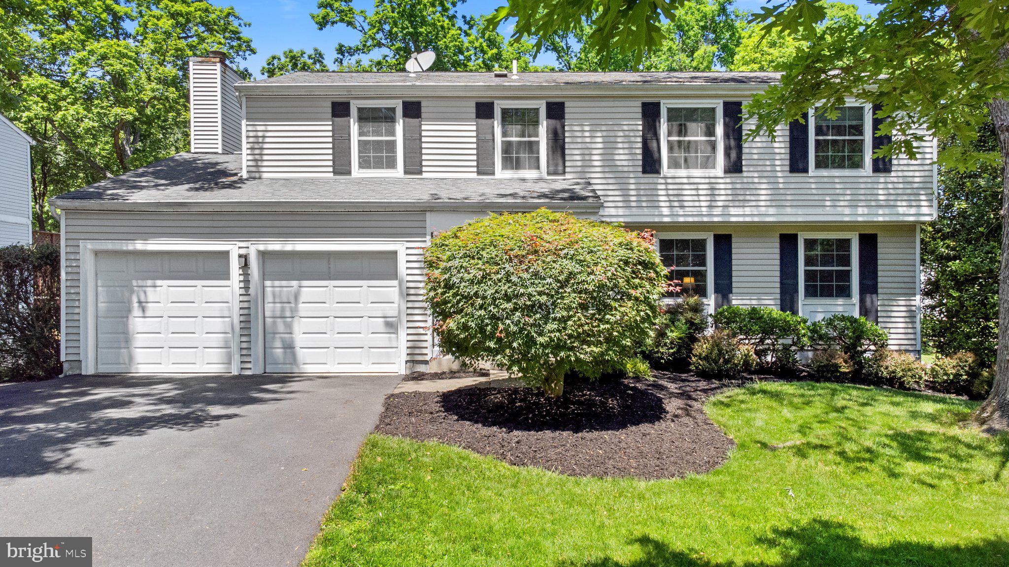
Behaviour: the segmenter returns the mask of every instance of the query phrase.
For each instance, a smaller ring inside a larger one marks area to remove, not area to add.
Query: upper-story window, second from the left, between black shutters
[[[497,105],[498,169],[503,175],[546,175],[543,103]]]

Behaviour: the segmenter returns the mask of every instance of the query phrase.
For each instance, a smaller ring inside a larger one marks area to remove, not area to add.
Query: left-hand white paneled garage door
[[[99,252],[99,372],[232,371],[228,252]]]

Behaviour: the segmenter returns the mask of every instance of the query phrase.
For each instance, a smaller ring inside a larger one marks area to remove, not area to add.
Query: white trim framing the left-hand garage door
[[[144,240],[82,240],[81,241],[81,369],[94,374],[98,366],[98,272],[99,252],[229,252],[228,271],[231,280],[231,372],[241,371],[241,336],[238,304],[238,244],[233,242]]]

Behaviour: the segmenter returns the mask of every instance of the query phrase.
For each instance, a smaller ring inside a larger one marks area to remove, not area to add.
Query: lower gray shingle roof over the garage
[[[87,202],[186,203],[599,203],[587,180],[501,178],[244,179],[241,154],[179,153],[61,195]]]

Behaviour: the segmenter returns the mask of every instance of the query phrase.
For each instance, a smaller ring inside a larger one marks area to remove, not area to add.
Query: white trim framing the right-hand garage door
[[[398,372],[407,371],[407,243],[404,241],[386,242],[348,242],[344,241],[284,241],[258,242],[249,245],[250,300],[252,303],[252,373],[265,371],[265,315],[263,313],[263,267],[262,257],[269,252],[396,252],[397,253],[397,284],[399,288],[399,352]]]

